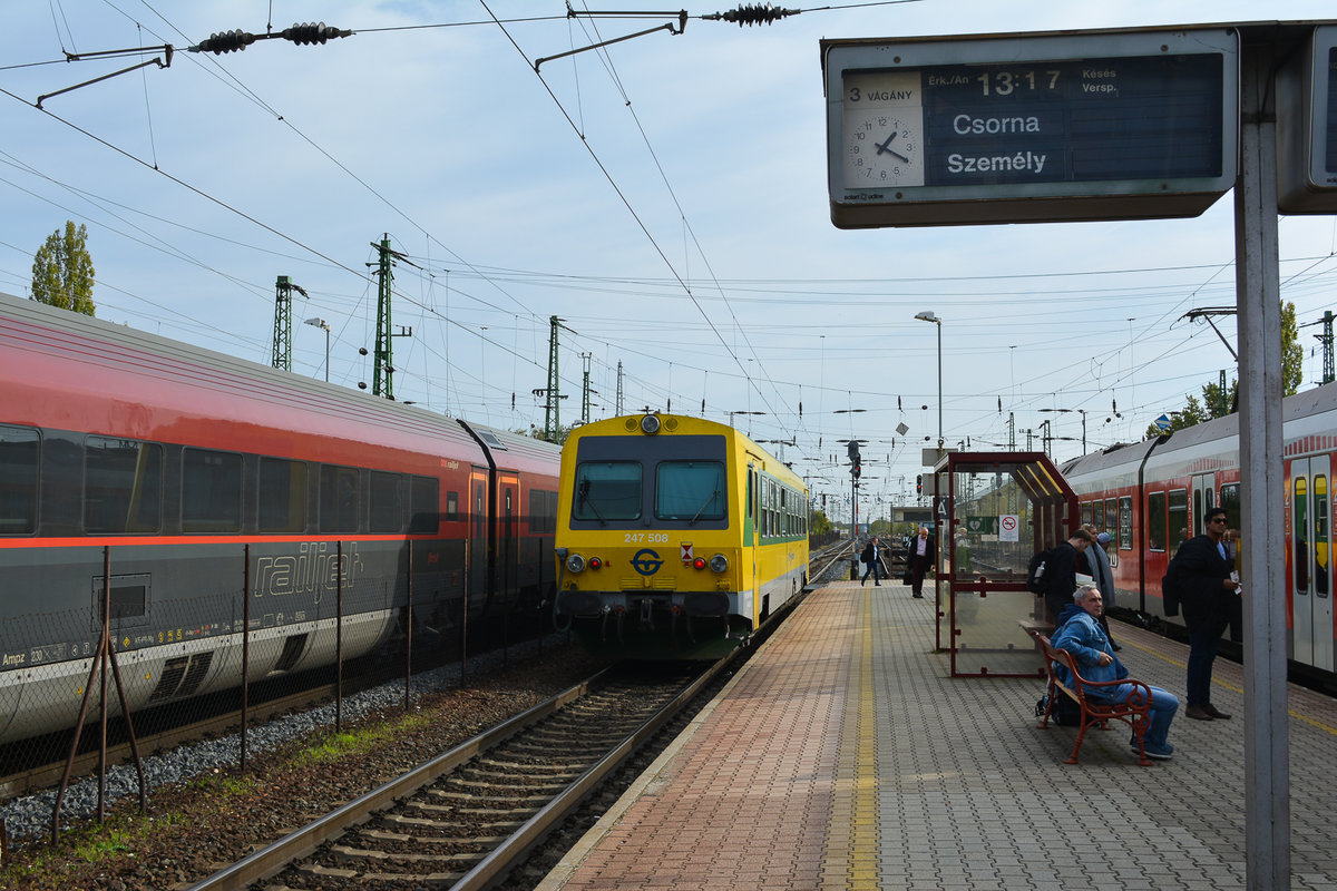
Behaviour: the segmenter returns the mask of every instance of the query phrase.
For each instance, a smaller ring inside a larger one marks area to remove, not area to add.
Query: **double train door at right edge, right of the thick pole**
[[[1305,665],[1333,671],[1333,598],[1329,528],[1332,458],[1290,462],[1292,609],[1294,652]]]

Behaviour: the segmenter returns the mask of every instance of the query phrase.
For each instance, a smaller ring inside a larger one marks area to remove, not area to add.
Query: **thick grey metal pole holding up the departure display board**
[[[1245,862],[1250,891],[1290,887],[1290,740],[1281,435],[1274,49],[1241,49],[1235,299],[1245,617]]]

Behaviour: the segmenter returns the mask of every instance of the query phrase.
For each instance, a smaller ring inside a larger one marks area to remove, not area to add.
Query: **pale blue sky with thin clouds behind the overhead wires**
[[[293,373],[370,387],[369,264],[389,238],[397,399],[541,430],[556,317],[563,425],[582,417],[587,366],[590,419],[615,415],[620,369],[623,413],[733,422],[833,505],[852,437],[874,502],[905,504],[939,434],[1039,449],[1048,419],[1064,460],[1083,435],[1087,450],[1138,441],[1222,370],[1234,377],[1221,337],[1183,318],[1235,305],[1230,194],[1191,219],[837,228],[818,44],[1255,21],[1257,3],[909,0],[790,7],[802,12],[755,27],[702,17],[727,8],[687,8],[679,32],[677,16],[568,17],[559,0],[5,4],[0,291],[27,295],[35,251],[74,220],[99,318],[269,363],[287,275],[305,291]],[[1278,1],[1266,17],[1330,15]],[[353,33],[189,52],[211,33],[310,21]],[[162,60],[163,44],[167,67],[60,92]],[[156,49],[88,55],[138,47]],[[1278,251],[1282,299],[1309,326],[1309,387],[1337,222],[1282,216]],[[306,319],[328,323],[328,362]],[[1233,346],[1235,319],[1215,321]]]

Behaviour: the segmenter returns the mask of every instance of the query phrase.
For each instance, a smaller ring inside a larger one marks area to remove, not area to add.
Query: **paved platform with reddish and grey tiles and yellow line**
[[[1245,888],[1243,679],[1229,721],[1139,767],[1123,725],[1038,729],[1036,679],[953,679],[935,605],[821,588],[539,886],[1060,891]],[[1019,632],[1020,633],[1020,632]],[[1114,624],[1135,677],[1183,697],[1187,648]],[[1337,888],[1337,704],[1290,708],[1290,887]]]

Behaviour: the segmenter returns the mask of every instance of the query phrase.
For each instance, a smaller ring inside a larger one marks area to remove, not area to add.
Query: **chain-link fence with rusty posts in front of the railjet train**
[[[135,544],[80,550],[82,562],[70,558],[35,585],[52,609],[0,621],[0,776],[9,780],[52,764],[96,769],[103,745],[132,739],[143,752],[183,735],[237,733],[317,699],[341,715],[344,696],[396,680],[408,703],[413,673],[459,661],[463,681],[468,656],[552,628],[551,590],[533,582],[541,572],[493,561],[471,590],[464,542],[302,545],[295,556],[215,548],[189,558]],[[237,735],[239,767],[246,739]],[[24,788],[11,781],[8,796]]]

